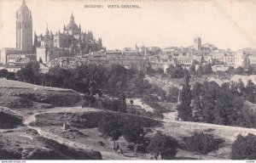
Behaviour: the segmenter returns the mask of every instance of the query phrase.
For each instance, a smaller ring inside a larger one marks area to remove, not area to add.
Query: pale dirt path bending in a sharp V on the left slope
[[[58,143],[76,148],[76,149],[91,149],[91,150],[98,150],[96,147],[91,147],[86,145],[85,143],[77,143],[73,140],[67,139],[67,138],[62,138],[61,136],[55,135],[52,132],[48,132],[45,131],[43,128],[41,127],[36,127],[36,126],[30,126],[29,123],[36,121],[36,115],[40,115],[43,113],[78,113],[78,112],[86,112],[86,111],[100,111],[97,109],[93,109],[93,108],[80,108],[80,107],[73,107],[73,108],[54,108],[48,111],[44,111],[41,113],[36,113],[33,115],[29,115],[28,117],[26,117],[26,120],[24,121],[24,124],[26,126],[28,126],[29,128],[32,128],[34,130],[36,130],[38,132],[39,135],[41,135],[44,138],[49,138],[52,140],[55,140]],[[115,152],[108,152],[108,151],[102,151],[102,150],[98,150],[101,152],[102,154],[102,159],[103,160],[130,160],[132,159],[131,157],[126,157],[126,156],[121,156],[116,154]],[[138,158],[134,158],[134,159],[138,159]]]

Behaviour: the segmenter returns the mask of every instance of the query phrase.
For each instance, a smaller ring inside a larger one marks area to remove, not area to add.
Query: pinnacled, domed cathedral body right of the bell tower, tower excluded
[[[101,49],[102,38],[96,40],[91,31],[81,31],[81,26],[75,23],[73,14],[71,14],[68,25],[64,25],[62,32],[59,30],[53,34],[47,26],[44,36],[34,35],[37,60],[44,64],[55,58],[71,57]]]

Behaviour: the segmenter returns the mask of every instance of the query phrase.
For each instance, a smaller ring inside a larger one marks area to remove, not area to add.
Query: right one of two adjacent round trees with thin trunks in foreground
[[[137,153],[137,145],[144,143],[146,132],[143,127],[136,121],[127,121],[122,127],[122,134],[129,143],[134,143],[134,153]]]

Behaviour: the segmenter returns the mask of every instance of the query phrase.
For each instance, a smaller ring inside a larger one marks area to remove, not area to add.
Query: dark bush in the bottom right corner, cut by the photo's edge
[[[256,136],[249,133],[246,137],[238,135],[232,144],[232,160],[256,160]]]

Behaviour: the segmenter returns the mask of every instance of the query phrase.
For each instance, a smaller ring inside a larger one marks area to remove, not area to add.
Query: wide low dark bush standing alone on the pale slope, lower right
[[[189,151],[199,152],[202,155],[218,149],[218,144],[223,142],[222,139],[215,139],[212,134],[204,132],[195,132],[193,136],[185,137],[183,140]]]

